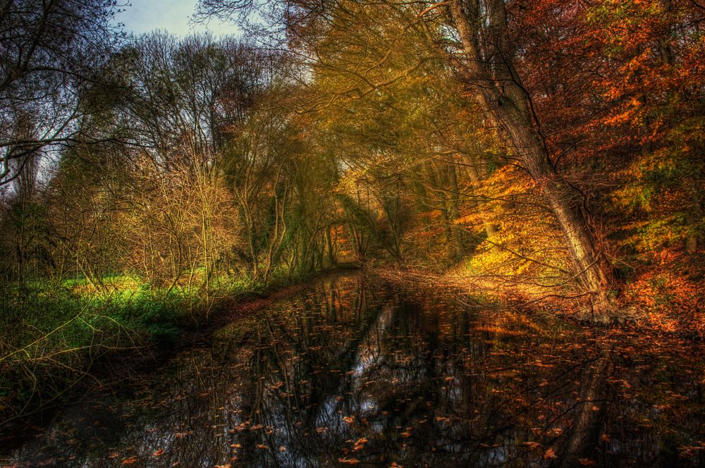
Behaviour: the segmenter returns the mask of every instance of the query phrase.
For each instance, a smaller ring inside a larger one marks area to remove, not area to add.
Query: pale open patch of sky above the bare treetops
[[[213,19],[208,25],[190,23],[190,16],[195,11],[197,0],[130,0],[131,6],[123,7],[116,21],[125,24],[127,32],[142,35],[156,29],[165,29],[178,36],[190,32],[210,31],[214,35],[229,35],[238,32],[233,23],[221,23]]]

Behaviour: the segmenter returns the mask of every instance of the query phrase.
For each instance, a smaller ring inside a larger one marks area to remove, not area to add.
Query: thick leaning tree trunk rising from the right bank
[[[591,297],[593,319],[606,319],[610,276],[580,211],[582,194],[566,183],[551,163],[529,94],[511,61],[504,1],[487,0],[483,5],[484,11],[477,0],[450,1],[450,17],[463,51],[456,64],[465,73],[470,92],[507,135],[508,144],[556,216],[575,279]]]

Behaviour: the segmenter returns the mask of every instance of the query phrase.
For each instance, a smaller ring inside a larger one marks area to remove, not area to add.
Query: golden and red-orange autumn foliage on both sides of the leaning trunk
[[[342,157],[357,167],[346,186],[369,195],[395,180],[405,218],[391,219],[379,196],[373,205],[386,229],[402,231],[407,266],[455,265],[453,281],[581,316],[574,301],[586,286],[563,221],[507,128],[475,101],[474,72],[434,56],[428,33],[395,23],[408,11],[384,2],[355,8],[316,29],[324,35],[315,68],[321,116],[332,125],[325,131],[336,135],[336,149],[352,145]],[[443,8],[420,10],[429,29],[446,22],[436,15]],[[388,21],[383,29],[370,25],[373,10]],[[704,8],[548,0],[506,2],[505,13],[505,60],[513,60],[534,131],[560,183],[572,187],[565,197],[588,226],[596,261],[608,264],[609,314],[699,333]],[[316,27],[298,26],[302,35]]]

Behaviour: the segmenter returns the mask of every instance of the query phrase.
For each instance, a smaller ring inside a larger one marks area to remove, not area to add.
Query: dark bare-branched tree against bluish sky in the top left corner
[[[78,138],[80,95],[121,38],[116,11],[114,0],[0,2],[0,185]]]

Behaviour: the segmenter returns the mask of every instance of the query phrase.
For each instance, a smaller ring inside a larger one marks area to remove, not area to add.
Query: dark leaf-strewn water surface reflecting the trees
[[[64,410],[12,461],[697,467],[702,356],[334,276]]]

